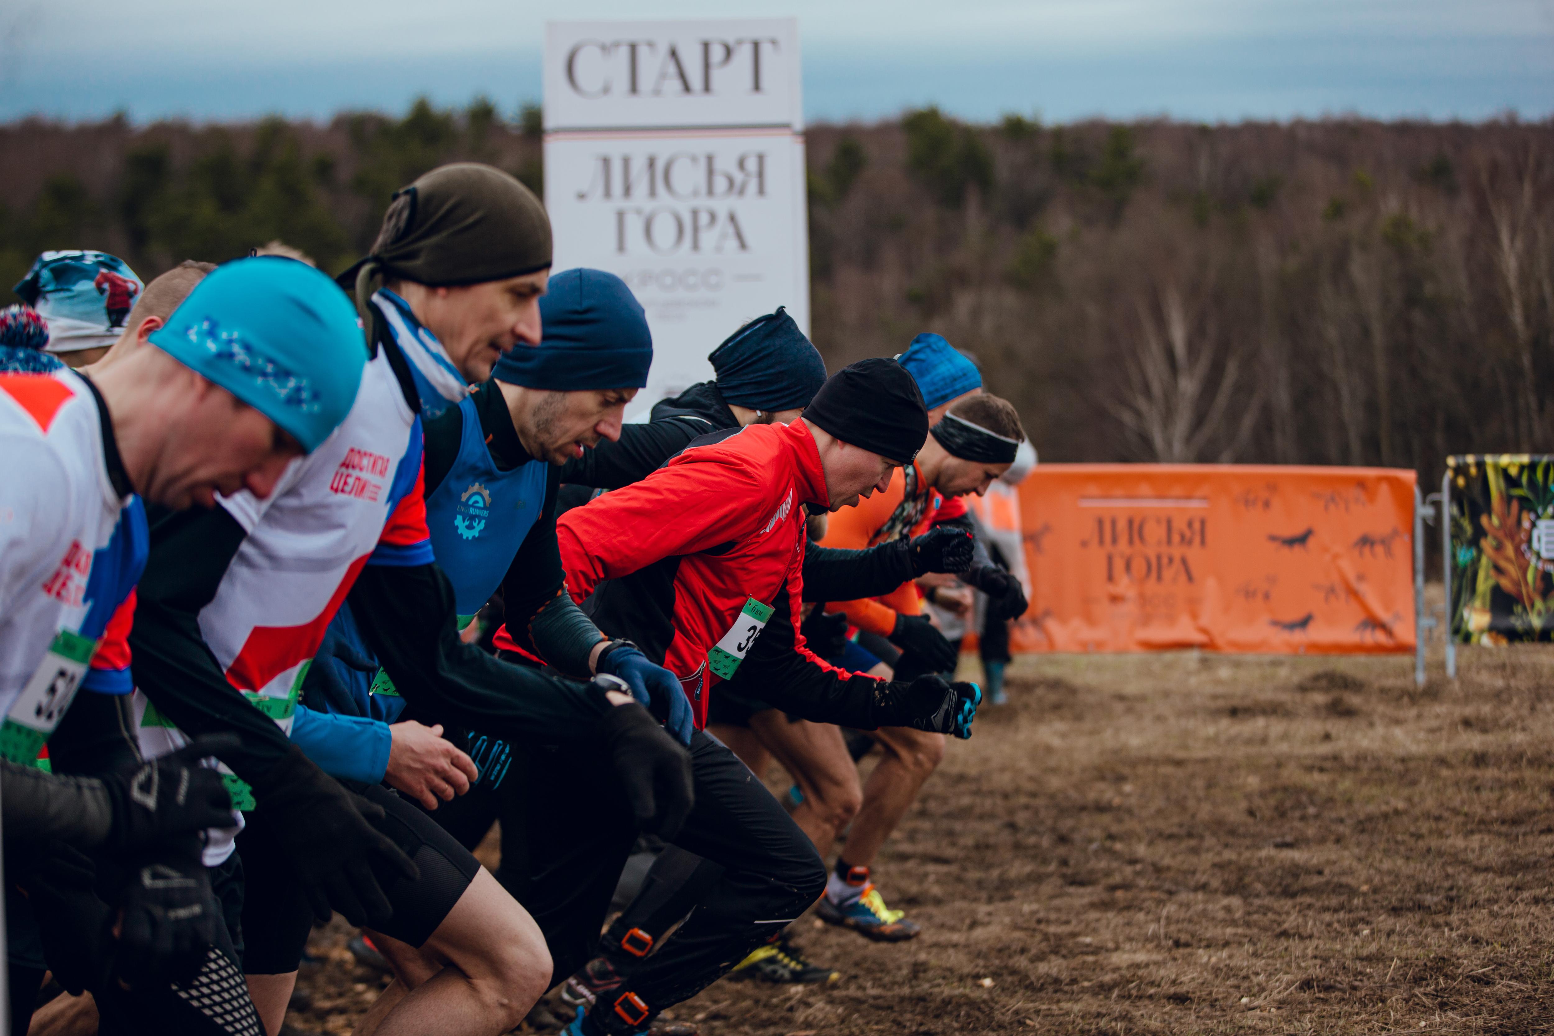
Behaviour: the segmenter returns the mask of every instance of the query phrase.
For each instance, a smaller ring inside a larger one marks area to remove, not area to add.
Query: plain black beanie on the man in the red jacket
[[[844,443],[909,464],[928,440],[923,393],[895,360],[858,360],[825,379],[803,416]]]

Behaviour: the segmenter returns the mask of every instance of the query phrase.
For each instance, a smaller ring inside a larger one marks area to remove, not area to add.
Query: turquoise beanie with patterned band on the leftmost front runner
[[[309,454],[351,412],[367,367],[351,300],[325,273],[281,256],[218,267],[151,332],[151,343]]]

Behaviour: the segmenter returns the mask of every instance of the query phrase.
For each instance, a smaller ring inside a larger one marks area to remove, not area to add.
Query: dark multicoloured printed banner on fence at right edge
[[[1451,637],[1554,640],[1554,457],[1448,457]]]

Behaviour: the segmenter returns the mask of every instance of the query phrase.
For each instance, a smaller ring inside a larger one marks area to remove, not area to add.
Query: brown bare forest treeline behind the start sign
[[[834,368],[943,334],[1047,460],[1436,480],[1447,454],[1554,450],[1551,129],[814,126],[813,337]],[[538,110],[0,126],[0,284],[59,247],[149,276],[280,239],[339,270],[460,158],[539,189]]]

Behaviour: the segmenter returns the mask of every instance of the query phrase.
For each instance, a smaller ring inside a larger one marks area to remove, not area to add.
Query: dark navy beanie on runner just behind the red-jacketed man
[[[707,357],[723,401],[751,410],[808,407],[825,384],[825,362],[786,306],[744,325]]]

